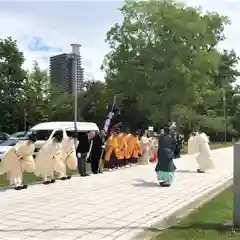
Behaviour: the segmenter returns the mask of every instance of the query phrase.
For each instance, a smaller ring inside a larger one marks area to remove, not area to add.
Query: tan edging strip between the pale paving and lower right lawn
[[[199,207],[211,201],[215,196],[217,196],[232,185],[233,179],[227,180],[215,189],[212,189],[210,192],[206,192],[203,196],[191,202],[189,205],[182,207],[181,209],[170,214],[163,220],[160,220],[156,224],[153,224],[151,227],[144,230],[142,233],[133,237],[132,240],[151,240],[153,237],[161,234],[161,232],[163,232],[164,230],[178,224],[182,218],[188,216],[190,213],[194,212]]]

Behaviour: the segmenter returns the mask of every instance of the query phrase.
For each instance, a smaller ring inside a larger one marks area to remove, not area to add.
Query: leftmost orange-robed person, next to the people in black
[[[118,154],[118,142],[115,132],[111,132],[111,135],[107,139],[105,148],[105,168],[112,170],[116,167],[116,155]]]

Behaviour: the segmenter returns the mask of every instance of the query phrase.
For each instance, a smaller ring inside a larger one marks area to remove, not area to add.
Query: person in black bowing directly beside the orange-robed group
[[[94,132],[91,140],[91,170],[93,174],[102,173],[99,168],[100,158],[102,155],[102,138],[100,136],[100,133]]]

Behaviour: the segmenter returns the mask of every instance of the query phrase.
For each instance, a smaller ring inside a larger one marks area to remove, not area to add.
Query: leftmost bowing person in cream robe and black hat
[[[14,186],[15,190],[26,189],[28,186],[23,184],[23,173],[35,171],[35,142],[36,135],[31,134],[28,140],[18,142],[3,157],[2,173],[7,173],[10,186]]]

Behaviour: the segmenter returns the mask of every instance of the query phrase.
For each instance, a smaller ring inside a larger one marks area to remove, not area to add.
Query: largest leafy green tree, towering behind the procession
[[[122,24],[107,33],[108,87],[134,99],[153,123],[171,119],[174,105],[195,107],[213,83],[225,16],[173,1],[125,1]]]

